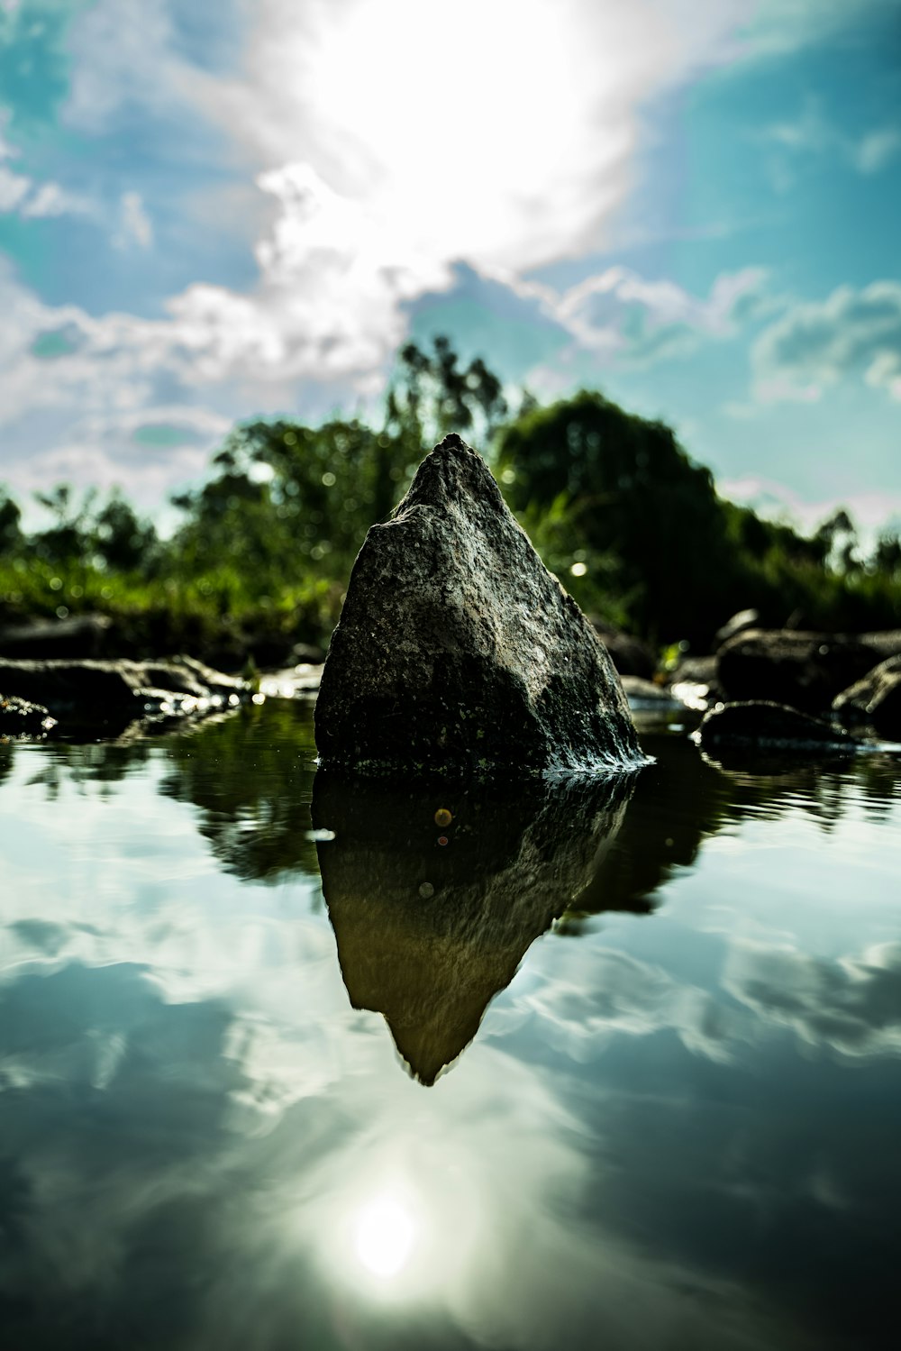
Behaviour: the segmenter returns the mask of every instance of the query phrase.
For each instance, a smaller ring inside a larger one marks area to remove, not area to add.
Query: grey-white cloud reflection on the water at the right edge
[[[901,943],[824,959],[794,948],[736,944],[724,985],[758,1017],[847,1056],[901,1048]]]

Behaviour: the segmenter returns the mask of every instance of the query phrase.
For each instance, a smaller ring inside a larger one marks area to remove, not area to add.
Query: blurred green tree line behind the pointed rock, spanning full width
[[[173,499],[161,538],[122,493],[38,494],[24,532],[0,490],[0,624],[104,612],[149,650],[262,635],[323,642],[366,530],[389,517],[427,449],[458,431],[489,458],[544,562],[584,609],[658,646],[704,650],[735,609],[779,626],[894,627],[901,542],[865,553],[839,511],[810,535],[716,492],[671,428],[596,390],[511,407],[446,338],[408,343],[374,424],[334,417],[235,427],[207,481]]]

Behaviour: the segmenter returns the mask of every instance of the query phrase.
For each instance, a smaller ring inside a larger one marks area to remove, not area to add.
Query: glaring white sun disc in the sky
[[[588,116],[584,89],[593,105],[609,77],[585,69],[557,0],[357,0],[342,14],[303,81],[342,147],[334,186],[411,249],[508,266],[524,232],[512,263],[536,261],[540,222],[623,150]]]

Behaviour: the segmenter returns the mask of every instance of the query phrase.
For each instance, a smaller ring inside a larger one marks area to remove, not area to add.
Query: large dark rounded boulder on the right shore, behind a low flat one
[[[717,678],[729,701],[771,700],[823,712],[879,659],[869,638],[746,630],[720,648]]]

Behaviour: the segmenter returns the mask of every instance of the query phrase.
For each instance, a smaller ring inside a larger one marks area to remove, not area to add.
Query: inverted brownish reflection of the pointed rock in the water
[[[635,775],[386,786],[320,770],[313,825],[344,985],[434,1084],[527,948],[592,884]],[[450,821],[447,817],[450,816]]]

